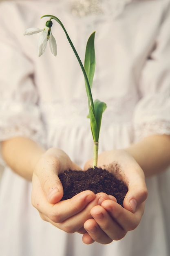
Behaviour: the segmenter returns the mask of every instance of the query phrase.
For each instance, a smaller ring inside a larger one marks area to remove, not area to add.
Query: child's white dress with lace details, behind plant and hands
[[[117,15],[110,11],[114,1],[98,1],[97,11],[85,16],[68,0],[0,4],[1,141],[31,137],[46,148],[61,148],[80,166],[92,157],[84,77],[64,32],[53,22],[57,57],[48,45],[38,58],[39,34],[23,36],[29,27],[44,27],[44,14],[62,20],[82,61],[88,36],[96,31],[92,92],[107,103],[99,152],[170,134],[170,1],[120,2]],[[81,235],[44,222],[31,205],[31,182],[6,167],[0,184],[0,255],[169,256],[170,171],[146,182],[149,194],[137,229],[109,245],[84,245]]]

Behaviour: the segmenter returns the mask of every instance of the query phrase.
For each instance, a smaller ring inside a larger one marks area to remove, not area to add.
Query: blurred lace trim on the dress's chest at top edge
[[[131,1],[132,0],[73,0],[71,12],[73,16],[78,17],[91,14],[106,14],[116,18],[123,11],[125,5]]]

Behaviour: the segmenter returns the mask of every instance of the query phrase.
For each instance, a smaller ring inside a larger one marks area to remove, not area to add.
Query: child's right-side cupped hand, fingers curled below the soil
[[[83,235],[83,242],[86,244],[94,241],[107,244],[123,238],[128,231],[139,225],[144,213],[147,188],[143,171],[135,159],[125,150],[112,150],[99,155],[99,167],[111,171],[111,167],[115,163],[119,164],[120,167],[119,172],[115,174],[122,178],[128,186],[124,208],[114,200],[103,200],[101,205],[93,207],[91,209],[93,218],[84,223],[84,229],[87,233]],[[88,161],[85,169],[91,164],[91,160]]]

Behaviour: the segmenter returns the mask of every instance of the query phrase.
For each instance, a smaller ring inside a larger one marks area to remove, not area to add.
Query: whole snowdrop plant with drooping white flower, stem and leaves
[[[91,88],[93,84],[93,77],[95,74],[95,32],[91,34],[91,36],[88,38],[87,44],[86,44],[86,53],[85,53],[85,59],[84,59],[84,65],[82,64],[82,61],[79,58],[79,55],[77,54],[77,51],[68,36],[68,33],[62,24],[62,22],[59,20],[59,18],[53,16],[53,15],[44,15],[41,18],[49,17],[50,19],[46,22],[46,27],[44,29],[37,29],[37,28],[30,28],[27,29],[24,32],[24,35],[31,35],[35,33],[39,33],[43,31],[41,35],[41,39],[39,40],[39,52],[38,55],[41,56],[44,53],[44,50],[46,48],[46,44],[49,41],[51,52],[56,56],[57,55],[57,46],[55,42],[55,38],[53,37],[51,33],[51,27],[52,22],[51,20],[57,21],[62,29],[64,30],[66,37],[68,39],[68,42],[70,43],[73,52],[75,53],[75,56],[79,62],[79,65],[82,69],[84,80],[85,80],[85,87],[86,87],[86,93],[88,97],[88,118],[90,119],[91,124],[91,132],[93,135],[93,168],[97,167],[97,159],[98,159],[98,147],[99,147],[99,132],[102,122],[102,115],[104,110],[106,109],[106,103],[95,100],[93,101]]]

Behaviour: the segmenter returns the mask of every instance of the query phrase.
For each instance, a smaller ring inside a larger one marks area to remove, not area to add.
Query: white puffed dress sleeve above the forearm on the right
[[[141,73],[139,92],[133,117],[135,141],[154,134],[170,135],[170,5]]]

